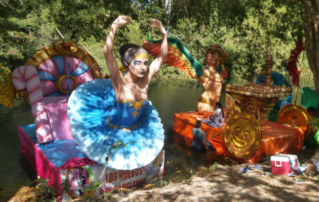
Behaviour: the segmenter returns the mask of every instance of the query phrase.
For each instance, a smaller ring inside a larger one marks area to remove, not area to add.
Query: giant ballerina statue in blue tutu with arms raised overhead
[[[132,23],[130,17],[118,16],[105,41],[104,55],[110,79],[94,79],[77,87],[69,98],[67,111],[81,150],[91,160],[120,170],[149,164],[164,145],[163,125],[148,100],[147,90],[167,56],[166,31],[160,21],[150,19],[150,27],[159,30],[163,39],[160,53],[149,67],[144,49],[135,44],[122,45],[119,54],[126,68],[122,74],[112,51],[116,29],[127,23]],[[117,141],[126,146],[118,149],[107,162],[107,151]]]

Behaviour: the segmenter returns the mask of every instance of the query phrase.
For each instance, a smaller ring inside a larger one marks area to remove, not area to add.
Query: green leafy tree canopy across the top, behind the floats
[[[141,45],[147,33],[158,37],[148,26],[148,19],[155,18],[202,63],[208,45],[220,44],[229,53],[229,75],[251,80],[263,69],[266,54],[273,56],[273,70],[287,74],[290,51],[307,21],[297,0],[166,1],[0,1],[0,63],[11,69],[21,66],[63,35],[85,43],[106,67],[102,44],[109,27],[118,15],[128,15],[134,24],[116,34],[115,51],[125,42]]]

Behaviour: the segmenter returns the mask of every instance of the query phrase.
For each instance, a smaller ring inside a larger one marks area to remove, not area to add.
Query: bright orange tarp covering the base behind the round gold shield
[[[190,146],[191,143],[191,131],[195,127],[196,116],[204,118],[203,115],[193,111],[174,114],[173,130],[185,137],[181,143],[187,143],[187,146]],[[303,145],[303,132],[301,129],[291,128],[272,121],[264,121],[260,126],[262,142],[256,153],[249,159],[237,158],[229,152],[224,142],[225,125],[221,128],[213,128],[202,124],[202,130],[206,134],[206,139],[211,142],[219,153],[243,163],[256,163],[266,156],[300,151]],[[183,138],[178,139],[182,140]]]

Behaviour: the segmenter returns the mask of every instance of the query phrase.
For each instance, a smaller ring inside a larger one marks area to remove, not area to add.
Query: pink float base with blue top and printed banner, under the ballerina
[[[103,172],[104,166],[89,160],[79,150],[74,139],[38,144],[33,124],[19,126],[18,133],[22,155],[41,179],[50,178],[47,185],[54,187],[57,190],[55,197],[62,196],[62,200],[87,195],[84,189],[98,180],[102,186],[95,192],[96,196],[114,189],[132,188],[164,174],[164,150],[144,167],[133,170],[106,168]],[[63,189],[62,183],[69,184],[69,191]]]

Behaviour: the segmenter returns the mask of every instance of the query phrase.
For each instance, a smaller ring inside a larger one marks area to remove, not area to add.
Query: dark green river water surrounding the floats
[[[221,103],[225,101],[224,87],[220,97]],[[203,92],[204,89],[197,82],[189,80],[151,83],[148,98],[162,119],[166,151],[165,175],[162,179],[154,181],[155,186],[181,182],[194,174],[199,166],[209,166],[214,162],[222,165],[233,163],[214,151],[189,156],[185,150],[173,146],[173,115],[196,110],[197,98]],[[32,123],[30,107],[24,100],[15,99],[13,108],[0,105],[0,201],[7,201],[22,186],[30,185],[35,179],[28,162],[21,156],[17,130],[19,125]]]

